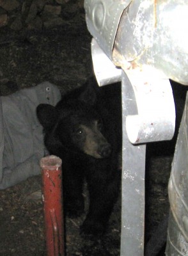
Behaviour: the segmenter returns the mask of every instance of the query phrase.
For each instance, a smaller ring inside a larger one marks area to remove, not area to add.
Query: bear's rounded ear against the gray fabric
[[[36,116],[44,129],[51,129],[58,118],[58,111],[50,104],[40,104],[36,108]]]

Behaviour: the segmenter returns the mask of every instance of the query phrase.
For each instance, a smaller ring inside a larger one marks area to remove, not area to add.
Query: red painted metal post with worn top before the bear
[[[65,255],[61,163],[56,156],[40,161],[47,256]]]

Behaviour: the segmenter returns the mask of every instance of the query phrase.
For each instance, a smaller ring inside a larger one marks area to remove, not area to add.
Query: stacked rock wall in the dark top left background
[[[52,28],[84,13],[84,0],[0,0],[0,29]]]

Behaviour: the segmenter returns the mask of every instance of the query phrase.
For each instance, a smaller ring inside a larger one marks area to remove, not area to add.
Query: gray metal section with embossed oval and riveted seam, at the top
[[[85,0],[86,22],[91,35],[111,58],[114,38],[123,10],[131,0]]]

